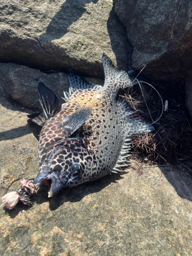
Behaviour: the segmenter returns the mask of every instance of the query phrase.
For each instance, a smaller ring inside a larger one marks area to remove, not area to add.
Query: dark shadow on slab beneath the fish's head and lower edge
[[[124,172],[123,174],[127,174]],[[81,184],[72,188],[63,188],[53,198],[48,198],[48,186],[41,186],[35,196],[37,204],[42,204],[49,200],[50,210],[56,210],[65,202],[79,202],[89,194],[97,193],[110,183],[116,183],[117,180],[123,179],[122,175],[107,175],[99,180]]]

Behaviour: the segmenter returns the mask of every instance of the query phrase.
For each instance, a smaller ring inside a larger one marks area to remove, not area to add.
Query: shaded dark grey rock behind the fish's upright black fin
[[[92,83],[103,84],[101,79],[87,79]],[[64,102],[61,99],[63,90],[69,89],[67,74],[61,72],[46,74],[14,63],[0,63],[0,87],[4,89],[7,97],[30,108],[40,108],[38,82],[44,82],[57,95],[60,102]]]

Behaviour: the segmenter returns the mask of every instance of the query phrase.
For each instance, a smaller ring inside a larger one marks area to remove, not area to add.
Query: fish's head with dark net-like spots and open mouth
[[[49,186],[48,197],[53,197],[62,187],[82,183],[88,155],[82,140],[65,139],[52,145],[40,159],[35,188],[46,184]]]

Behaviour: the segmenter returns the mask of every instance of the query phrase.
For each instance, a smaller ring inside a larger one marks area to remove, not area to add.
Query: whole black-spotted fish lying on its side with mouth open
[[[39,137],[39,172],[34,186],[49,185],[49,197],[62,187],[94,181],[129,165],[133,134],[151,132],[154,126],[119,96],[132,86],[125,71],[102,55],[104,86],[89,83],[69,69],[66,103],[43,83],[38,84],[43,113],[33,121],[43,125]]]

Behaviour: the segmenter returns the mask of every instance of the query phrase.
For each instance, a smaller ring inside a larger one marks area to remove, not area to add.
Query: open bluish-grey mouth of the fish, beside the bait
[[[48,197],[55,196],[58,191],[62,188],[63,183],[60,181],[57,173],[49,174],[47,177],[42,177],[42,174],[39,174],[34,179],[34,187],[37,189],[41,185],[48,185]]]

